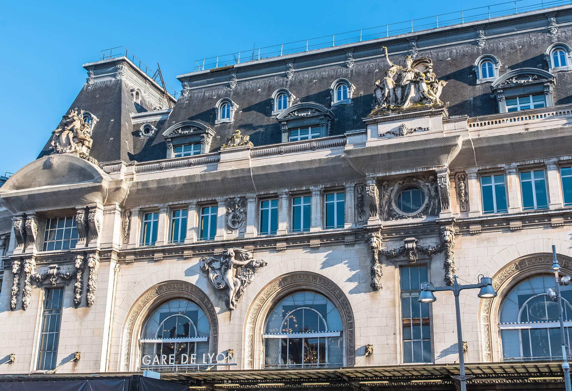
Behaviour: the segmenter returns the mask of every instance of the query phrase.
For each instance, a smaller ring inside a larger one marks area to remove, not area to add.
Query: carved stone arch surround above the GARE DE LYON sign
[[[132,336],[134,331],[134,326],[137,319],[140,319],[141,312],[148,310],[153,302],[162,301],[162,297],[174,296],[181,294],[182,297],[188,298],[189,300],[196,303],[205,312],[209,320],[210,327],[210,350],[218,352],[219,345],[219,321],[217,319],[216,309],[213,303],[210,301],[209,297],[198,287],[191,283],[184,281],[177,282],[165,282],[161,285],[157,285],[148,290],[142,297],[133,305],[129,318],[127,319],[127,324],[125,327],[125,347],[123,356],[123,370],[129,370],[129,357],[130,350],[132,346]],[[145,314],[150,315],[148,313]],[[135,346],[135,345],[133,345]]]

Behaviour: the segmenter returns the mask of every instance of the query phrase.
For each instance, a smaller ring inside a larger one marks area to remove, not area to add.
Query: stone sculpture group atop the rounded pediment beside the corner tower
[[[51,134],[51,147],[54,152],[78,152],[80,156],[89,155],[92,148],[92,127],[84,122],[84,110],[80,113],[77,109],[70,110]]]

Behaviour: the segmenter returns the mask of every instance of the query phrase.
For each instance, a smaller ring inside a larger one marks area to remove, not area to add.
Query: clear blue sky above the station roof
[[[443,0],[2,2],[0,175],[37,157],[84,85],[81,65],[97,61],[102,49],[125,46],[153,69],[159,62],[178,92],[175,77],[191,72],[199,58],[468,6]]]

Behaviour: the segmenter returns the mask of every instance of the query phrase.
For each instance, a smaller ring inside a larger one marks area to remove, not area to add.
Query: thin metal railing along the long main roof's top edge
[[[391,37],[404,33],[434,29],[451,25],[458,25],[479,20],[486,20],[505,15],[513,15],[526,11],[541,10],[559,5],[572,4],[572,0],[515,0],[496,3],[493,5],[455,11],[446,14],[434,15],[408,21],[388,23],[386,25],[369,27],[367,29],[347,31],[345,33],[324,35],[323,37],[309,38],[308,40],[288,42],[264,48],[243,50],[223,56],[202,58],[194,61],[196,66],[193,72],[205,69],[219,68],[221,66],[241,64],[244,62],[263,60],[264,58],[280,57],[287,54],[309,52],[310,50],[332,48],[345,44],[370,41],[378,38]]]

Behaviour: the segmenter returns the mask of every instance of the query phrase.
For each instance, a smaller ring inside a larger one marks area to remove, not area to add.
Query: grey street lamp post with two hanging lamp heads
[[[491,299],[496,297],[496,292],[492,288],[492,278],[480,277],[480,283],[471,285],[460,285],[457,282],[457,276],[454,277],[455,283],[451,286],[434,287],[430,282],[423,282],[421,284],[421,292],[419,293],[420,303],[432,303],[436,301],[433,292],[439,291],[452,291],[455,295],[455,312],[457,316],[457,345],[459,346],[459,376],[452,376],[452,378],[459,380],[461,384],[461,391],[467,391],[467,380],[472,376],[466,376],[464,370],[464,357],[463,357],[463,335],[461,330],[461,314],[459,307],[459,293],[463,289],[480,289],[478,297],[482,299]]]

